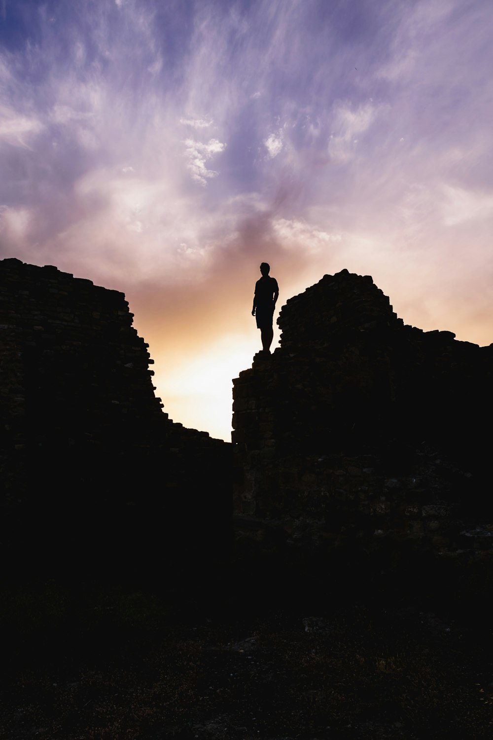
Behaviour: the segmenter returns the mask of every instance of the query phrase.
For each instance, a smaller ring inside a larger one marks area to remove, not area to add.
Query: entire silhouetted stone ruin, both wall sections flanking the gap
[[[281,347],[234,381],[239,590],[478,593],[492,576],[493,346],[404,326],[346,270],[288,300],[279,326]],[[229,583],[231,445],[168,419],[147,349],[122,293],[0,262],[0,548],[14,581]]]

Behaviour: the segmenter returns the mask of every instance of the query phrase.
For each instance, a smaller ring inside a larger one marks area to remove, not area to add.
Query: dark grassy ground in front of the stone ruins
[[[409,605],[210,608],[54,583],[1,600],[0,738],[486,739],[492,626]]]

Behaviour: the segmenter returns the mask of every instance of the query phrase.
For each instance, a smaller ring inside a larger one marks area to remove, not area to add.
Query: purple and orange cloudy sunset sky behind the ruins
[[[492,343],[492,31],[485,0],[0,0],[0,258],[123,291],[164,411],[225,440],[262,261],[278,309],[347,268]]]

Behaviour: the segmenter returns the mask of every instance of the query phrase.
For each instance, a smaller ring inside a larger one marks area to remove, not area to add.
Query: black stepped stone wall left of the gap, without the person
[[[0,500],[14,577],[176,582],[223,559],[230,445],[163,413],[132,315],[123,293],[0,262]]]

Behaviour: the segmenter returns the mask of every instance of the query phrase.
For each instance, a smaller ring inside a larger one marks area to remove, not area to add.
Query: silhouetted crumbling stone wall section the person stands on
[[[347,270],[278,323],[281,347],[234,380],[238,553],[329,581],[438,555],[483,568],[493,346],[404,326]]]

